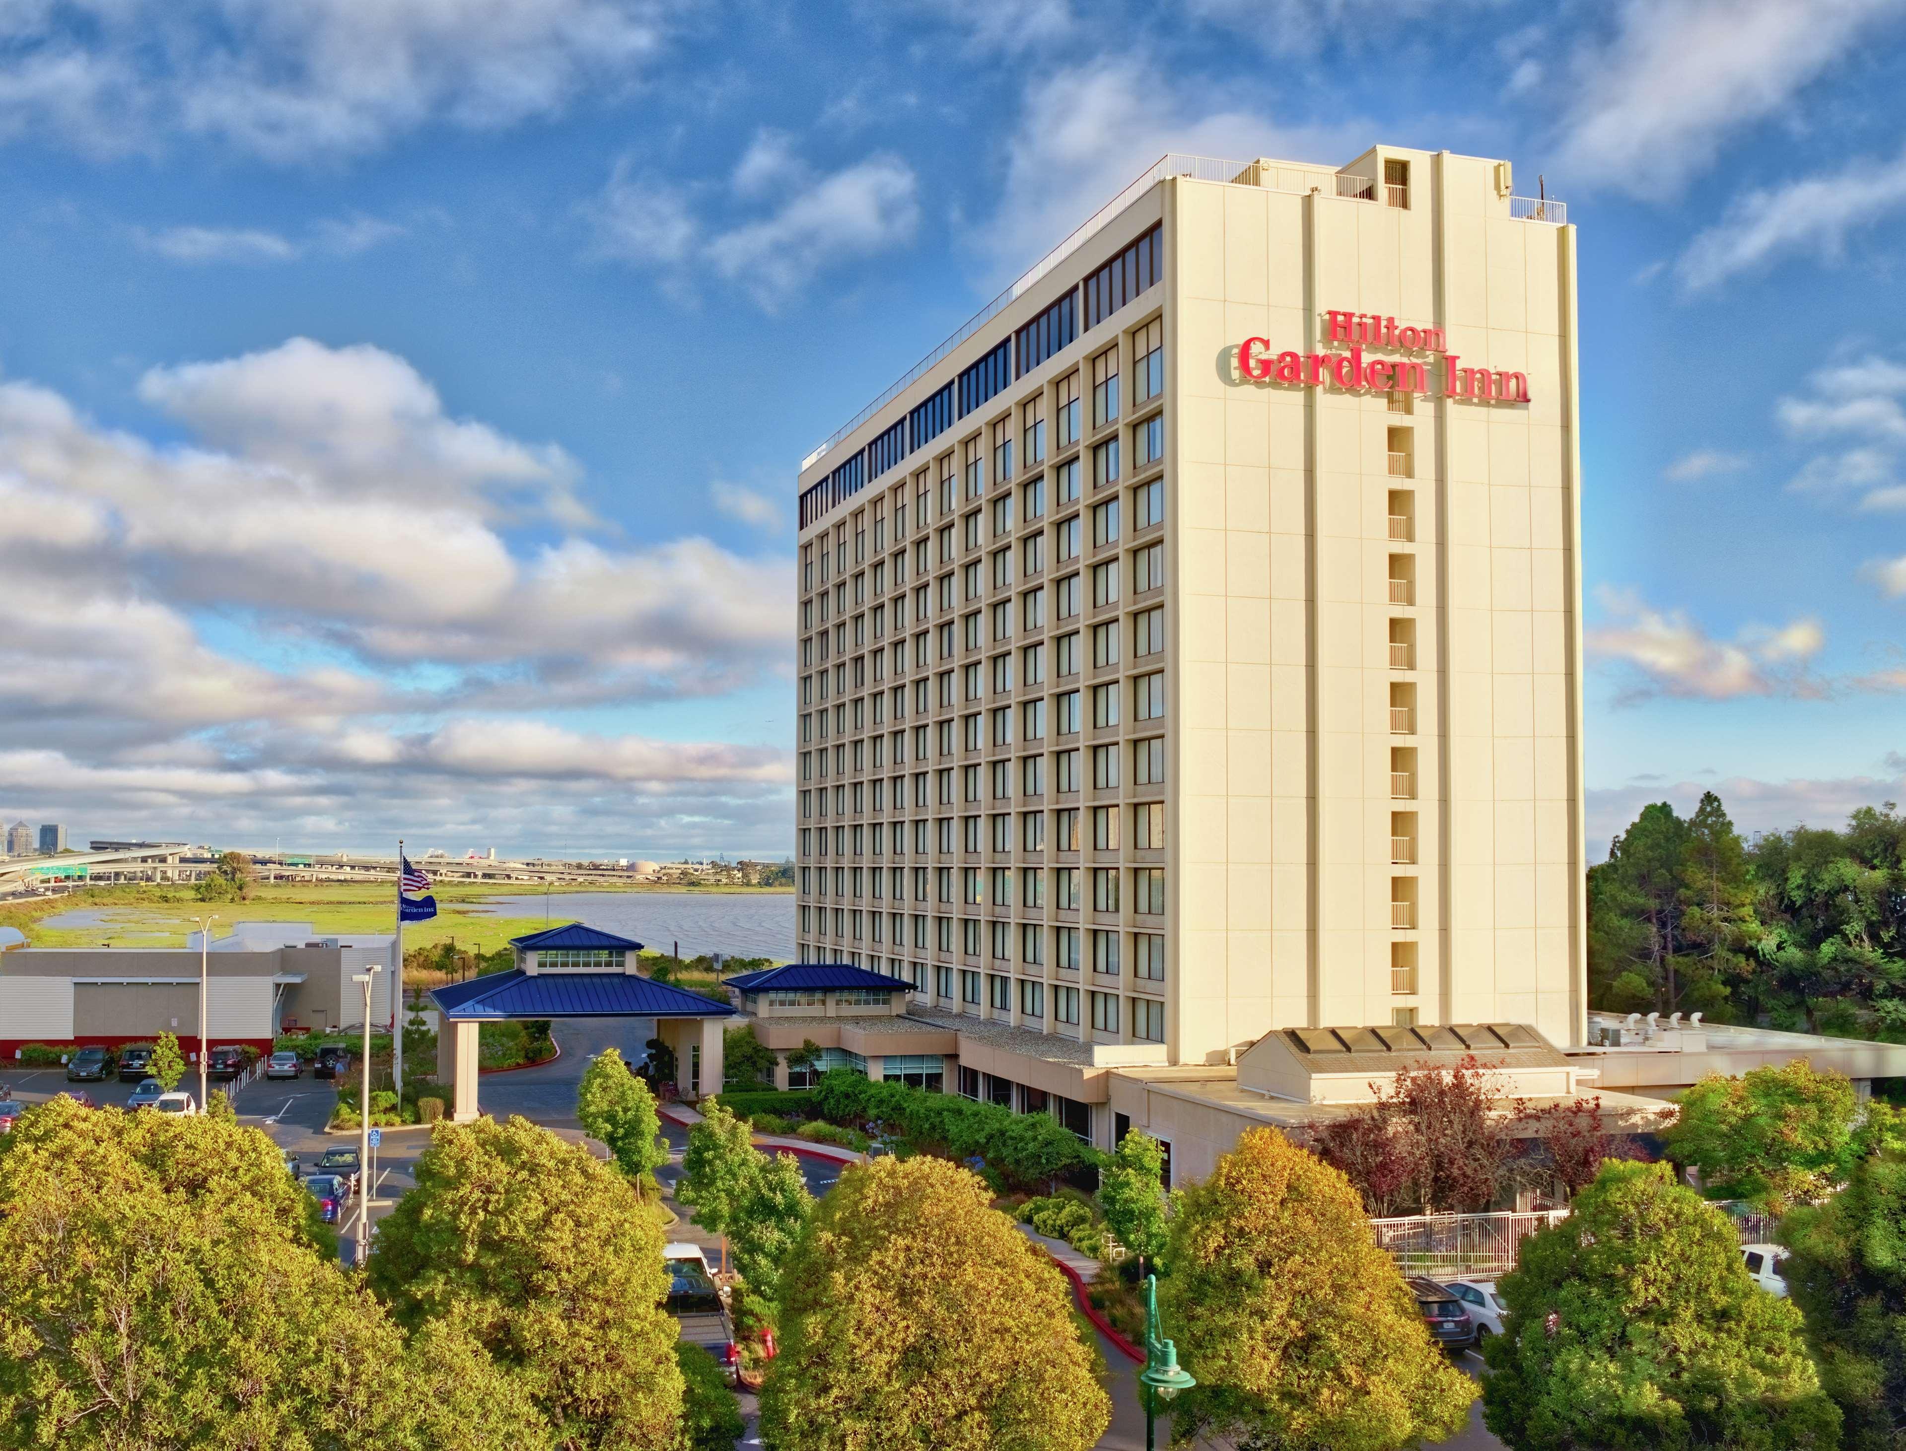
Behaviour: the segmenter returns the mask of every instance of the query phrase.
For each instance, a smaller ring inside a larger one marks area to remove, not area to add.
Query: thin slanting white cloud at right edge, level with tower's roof
[[[1906,208],[1906,153],[1891,162],[1858,160],[1832,175],[1750,191],[1689,242],[1675,276],[1700,290],[1795,254],[1837,261],[1849,233],[1900,208]]]

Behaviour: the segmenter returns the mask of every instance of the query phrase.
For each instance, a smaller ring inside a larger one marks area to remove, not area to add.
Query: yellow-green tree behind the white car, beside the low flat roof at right
[[[1668,1157],[1700,1169],[1706,1188],[1773,1213],[1822,1197],[1896,1136],[1895,1110],[1862,1106],[1843,1073],[1805,1058],[1740,1077],[1708,1073],[1681,1094],[1666,1134]]]

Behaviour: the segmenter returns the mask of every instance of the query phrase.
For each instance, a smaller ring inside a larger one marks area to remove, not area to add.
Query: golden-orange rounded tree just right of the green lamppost
[[[1344,1175],[1247,1129],[1176,1197],[1159,1300],[1199,1384],[1172,1403],[1174,1440],[1391,1451],[1462,1426],[1475,1390]]]

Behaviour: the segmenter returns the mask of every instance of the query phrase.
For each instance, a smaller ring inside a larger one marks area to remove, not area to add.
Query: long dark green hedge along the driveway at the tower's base
[[[1018,1184],[1050,1182],[1096,1163],[1077,1134],[1046,1114],[1014,1114],[949,1093],[926,1093],[903,1083],[871,1081],[848,1070],[821,1073],[814,1091],[821,1117],[865,1127],[898,1129],[919,1146],[940,1146],[953,1159],[983,1159]]]

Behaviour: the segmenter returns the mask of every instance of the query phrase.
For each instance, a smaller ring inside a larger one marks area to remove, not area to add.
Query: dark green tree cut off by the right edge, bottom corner
[[[1807,1321],[1847,1451],[1906,1445],[1906,1163],[1866,1159],[1820,1209],[1780,1222],[1784,1274]]]

